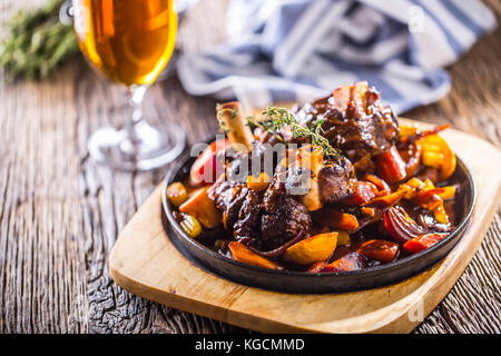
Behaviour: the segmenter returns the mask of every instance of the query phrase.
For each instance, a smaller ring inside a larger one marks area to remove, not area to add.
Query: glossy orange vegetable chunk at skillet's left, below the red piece
[[[223,222],[223,215],[216,205],[207,195],[210,187],[199,188],[193,196],[186,200],[179,211],[193,215],[206,228],[215,228]]]

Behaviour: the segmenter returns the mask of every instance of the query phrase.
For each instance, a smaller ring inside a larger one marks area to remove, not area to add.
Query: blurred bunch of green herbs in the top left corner
[[[0,40],[0,65],[8,81],[45,79],[78,52],[73,28],[59,21],[63,2],[50,0],[39,9],[19,11],[7,22],[7,36]]]

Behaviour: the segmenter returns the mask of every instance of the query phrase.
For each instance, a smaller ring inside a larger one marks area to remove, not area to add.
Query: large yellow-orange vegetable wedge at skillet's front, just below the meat
[[[336,249],[337,233],[315,235],[294,244],[285,250],[284,259],[310,265],[328,259]]]

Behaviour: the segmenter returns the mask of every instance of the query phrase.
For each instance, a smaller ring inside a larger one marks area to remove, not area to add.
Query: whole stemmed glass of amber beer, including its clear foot
[[[73,0],[75,30],[95,68],[127,86],[129,118],[101,127],[89,139],[90,156],[122,170],[149,170],[184,149],[177,125],[156,128],[143,117],[145,92],[167,65],[176,39],[174,0]]]

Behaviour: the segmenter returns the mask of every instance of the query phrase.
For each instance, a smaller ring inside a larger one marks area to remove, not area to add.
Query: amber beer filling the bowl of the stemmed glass
[[[80,49],[117,82],[151,83],[173,53],[173,0],[73,0],[73,10]]]

